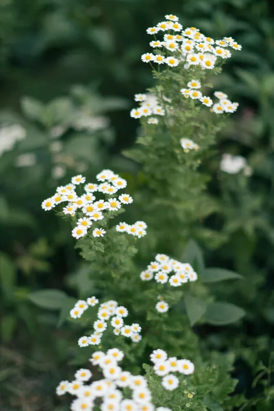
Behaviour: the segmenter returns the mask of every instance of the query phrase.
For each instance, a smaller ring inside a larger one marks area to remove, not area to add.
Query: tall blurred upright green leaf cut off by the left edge
[[[7,254],[0,253],[0,283],[3,295],[11,299],[15,283],[15,266]]]

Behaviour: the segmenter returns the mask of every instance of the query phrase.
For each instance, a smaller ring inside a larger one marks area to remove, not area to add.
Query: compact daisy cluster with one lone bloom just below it
[[[196,281],[198,276],[190,264],[180,263],[166,254],[157,254],[155,261],[151,261],[147,270],[141,272],[140,278],[142,281],[151,281],[154,278],[156,283],[169,283],[172,287],[179,287],[189,281]],[[169,305],[160,297],[155,308],[163,313],[168,311]]]

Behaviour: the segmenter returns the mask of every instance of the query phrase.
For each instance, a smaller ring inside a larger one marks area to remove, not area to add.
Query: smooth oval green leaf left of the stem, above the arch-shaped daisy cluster
[[[58,310],[62,308],[68,296],[60,290],[48,289],[33,291],[28,295],[28,299],[38,307],[47,310]]]

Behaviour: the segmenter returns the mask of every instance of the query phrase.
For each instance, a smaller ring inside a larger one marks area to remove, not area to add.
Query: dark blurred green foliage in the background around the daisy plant
[[[149,51],[145,29],[170,12],[185,27],[216,39],[232,36],[243,46],[215,84],[239,101],[240,109],[205,165],[217,206],[196,239],[208,265],[249,278],[248,286],[236,289],[215,286],[219,298],[230,298],[248,314],[239,325],[201,325],[197,332],[210,348],[226,349],[229,338],[240,380],[236,391],[246,394],[246,409],[272,409],[273,9],[265,0],[1,2],[1,126],[21,124],[27,131],[0,158],[1,409],[62,409],[52,393],[67,362],[73,363],[77,329],[58,328],[59,313],[35,307],[28,294],[57,288],[74,298],[88,278],[69,228],[43,213],[40,204],[76,171],[92,178],[106,166],[124,173],[134,189],[131,175],[138,167],[119,153],[139,132],[129,117],[133,95],[152,85],[150,70],[140,63],[140,54]],[[79,117],[92,118],[93,125],[79,126]],[[54,148],[56,141],[62,150]],[[248,158],[253,167],[248,184],[217,172],[226,151]],[[15,166],[26,154],[35,154],[34,164]],[[56,178],[56,167],[65,170],[64,177]],[[211,230],[220,235],[212,238]]]

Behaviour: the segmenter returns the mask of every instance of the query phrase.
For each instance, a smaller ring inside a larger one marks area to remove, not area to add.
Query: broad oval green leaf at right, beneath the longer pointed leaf
[[[207,307],[204,319],[213,325],[232,324],[245,315],[245,310],[229,303],[210,303]]]

